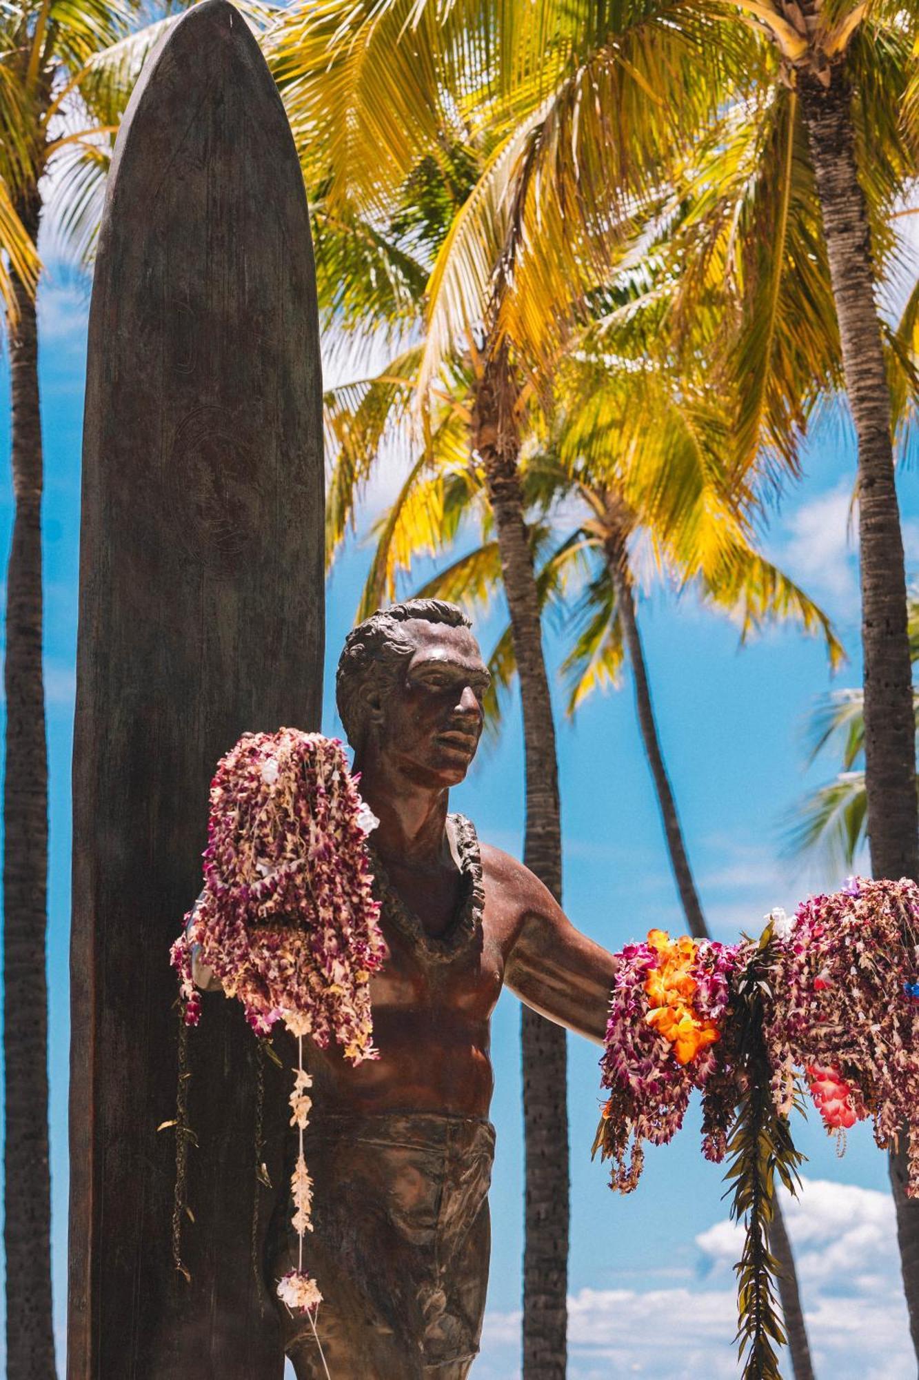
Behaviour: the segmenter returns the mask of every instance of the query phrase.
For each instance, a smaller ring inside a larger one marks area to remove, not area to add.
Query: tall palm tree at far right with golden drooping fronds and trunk
[[[628,14],[620,8],[615,23],[600,10],[597,19],[592,4],[546,0],[538,15],[527,11],[527,25],[517,26],[520,33],[528,26],[530,37],[519,36],[504,10],[488,15],[500,30],[495,50],[511,54],[504,109],[530,141],[527,192],[517,207],[523,251],[493,330],[515,341],[522,360],[545,363],[569,328],[566,316],[589,301],[602,265],[618,253],[624,222],[635,218],[642,201],[646,214],[660,219],[662,207],[679,206],[689,186],[695,219],[690,217],[687,233],[675,237],[689,310],[697,310],[700,284],[711,286],[719,259],[747,269],[727,282],[734,306],[724,313],[715,356],[722,377],[744,370],[752,384],[737,418],[748,440],[744,464],[771,458],[778,471],[793,469],[810,406],[842,378],[858,442],[872,871],[916,876],[919,820],[891,360],[885,356],[875,301],[893,247],[889,217],[916,167],[911,131],[900,119],[915,17],[893,6],[844,0],[822,8],[807,0],[791,10],[773,0],[741,0],[737,7],[686,0],[636,6]],[[465,12],[462,19],[471,25]],[[722,37],[715,39],[715,28]],[[551,54],[542,69],[534,63],[533,33]],[[442,50],[448,41],[442,39]],[[479,51],[475,41],[466,41],[469,47]],[[457,44],[454,51],[466,48]],[[687,65],[694,92],[687,90]],[[473,69],[476,77],[480,69],[482,63]],[[680,130],[668,127],[668,109],[679,110]],[[705,130],[713,131],[709,163],[698,150],[687,150],[687,142]],[[738,130],[740,142],[745,130],[748,148],[759,148],[767,159],[752,177],[748,170],[740,192]],[[733,184],[729,197],[711,181],[715,166]],[[483,177],[491,175],[486,168]],[[479,200],[487,204],[488,197]],[[727,214],[731,200],[734,218]],[[454,264],[466,279],[475,277],[487,241],[487,224],[471,217],[464,240],[453,246]],[[789,297],[803,310],[785,310]],[[555,313],[546,312],[546,299],[555,302]],[[564,304],[571,304],[567,310]],[[455,309],[451,315],[455,328]],[[904,1154],[901,1147],[891,1159],[891,1180],[919,1351],[919,1206],[904,1194]]]

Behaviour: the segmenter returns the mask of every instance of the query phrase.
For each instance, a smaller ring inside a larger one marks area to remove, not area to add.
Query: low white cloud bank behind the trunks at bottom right
[[[784,1195],[784,1210],[817,1372],[833,1380],[912,1380],[890,1195],[804,1180],[798,1199]],[[695,1288],[581,1289],[569,1300],[570,1380],[735,1380],[733,1267],[741,1232],[723,1220],[695,1243]],[[475,1380],[516,1380],[519,1329],[519,1312],[487,1315]]]

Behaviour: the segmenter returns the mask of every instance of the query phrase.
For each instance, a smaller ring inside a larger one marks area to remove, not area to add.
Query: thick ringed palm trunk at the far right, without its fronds
[[[858,439],[858,545],[865,684],[865,789],[871,868],[919,880],[916,720],[907,633],[907,577],[890,436],[890,391],[873,291],[865,197],[858,182],[851,91],[799,77],[839,320],[849,406]],[[901,1137],[904,1141],[905,1137]],[[890,1156],[909,1329],[919,1355],[919,1202],[907,1199],[905,1144]]]

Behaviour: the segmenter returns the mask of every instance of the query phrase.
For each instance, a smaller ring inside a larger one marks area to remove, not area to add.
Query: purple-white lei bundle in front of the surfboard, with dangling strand
[[[290,1096],[298,1156],[291,1179],[297,1270],[279,1281],[288,1308],[316,1310],[304,1271],[312,1181],[304,1156],[312,1079],[302,1042],[331,1039],[352,1064],[375,1058],[370,976],[386,956],[371,897],[366,836],[377,824],[337,738],[280,729],[247,733],[221,759],[210,793],[204,890],[171,948],[186,1025],[197,1025],[193,958],[239,996],[258,1035],[281,1021],[297,1036]]]

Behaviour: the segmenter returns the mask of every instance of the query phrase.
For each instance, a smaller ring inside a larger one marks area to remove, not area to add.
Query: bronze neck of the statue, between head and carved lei
[[[357,789],[379,820],[373,845],[379,857],[408,867],[436,867],[450,856],[450,792],[410,780],[397,763],[378,755],[355,758]]]

